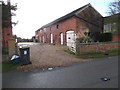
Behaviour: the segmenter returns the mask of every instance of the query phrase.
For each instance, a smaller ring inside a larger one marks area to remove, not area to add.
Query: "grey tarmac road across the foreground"
[[[118,57],[53,70],[5,72],[2,79],[3,88],[118,88]]]

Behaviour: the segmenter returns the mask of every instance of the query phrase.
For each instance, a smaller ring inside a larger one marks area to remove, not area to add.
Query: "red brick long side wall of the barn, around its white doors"
[[[58,25],[58,29],[56,28]],[[50,30],[51,27],[51,30]],[[53,34],[53,43],[60,44],[60,33],[64,35],[64,44],[66,44],[66,31],[73,30],[76,32],[76,18],[71,17],[62,22],[56,23],[46,28],[46,32],[42,30],[39,33],[39,37],[45,37],[45,42],[50,43],[50,34]],[[47,35],[47,36],[46,36]]]

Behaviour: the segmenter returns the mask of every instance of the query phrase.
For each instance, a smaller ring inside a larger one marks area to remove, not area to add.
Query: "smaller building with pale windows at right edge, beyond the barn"
[[[112,33],[113,41],[120,41],[120,13],[104,17],[104,33]]]

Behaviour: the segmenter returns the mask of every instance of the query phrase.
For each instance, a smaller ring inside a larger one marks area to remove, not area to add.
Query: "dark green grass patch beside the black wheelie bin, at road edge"
[[[16,70],[17,66],[19,66],[19,64],[12,64],[10,61],[3,62],[2,63],[2,71],[6,72],[6,71],[11,71],[11,70]]]

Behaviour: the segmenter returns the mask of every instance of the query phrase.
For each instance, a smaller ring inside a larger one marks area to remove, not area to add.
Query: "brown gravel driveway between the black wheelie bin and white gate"
[[[50,67],[62,67],[72,63],[84,62],[64,52],[67,46],[60,45],[30,45],[30,61],[32,64],[19,66],[18,70],[32,70]]]

